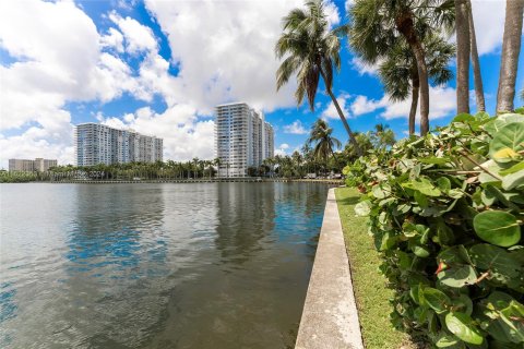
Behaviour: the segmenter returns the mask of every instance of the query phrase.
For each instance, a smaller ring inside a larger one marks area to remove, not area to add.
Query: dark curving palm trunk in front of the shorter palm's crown
[[[407,12],[396,17],[395,24],[412,48],[417,62],[418,79],[420,81],[420,135],[426,135],[429,132],[429,82],[422,45],[415,34],[412,13]]]

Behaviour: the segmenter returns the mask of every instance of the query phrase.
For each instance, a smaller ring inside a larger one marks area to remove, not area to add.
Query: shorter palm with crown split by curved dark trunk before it
[[[436,85],[443,85],[453,77],[448,62],[455,53],[453,45],[438,35],[427,35],[424,39],[428,74]],[[391,47],[384,61],[379,67],[379,77],[385,93],[392,101],[412,97],[409,109],[409,134],[415,133],[415,117],[418,107],[420,80],[412,49],[405,40],[397,40]]]

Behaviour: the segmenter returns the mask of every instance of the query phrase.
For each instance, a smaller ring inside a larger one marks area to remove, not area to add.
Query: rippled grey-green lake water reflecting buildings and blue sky
[[[1,184],[1,348],[293,348],[327,186]]]

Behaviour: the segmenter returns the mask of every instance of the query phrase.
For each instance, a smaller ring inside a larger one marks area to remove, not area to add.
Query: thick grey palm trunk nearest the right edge
[[[513,111],[515,98],[516,67],[521,52],[522,14],[524,0],[505,2],[504,36],[502,38],[502,62],[500,64],[497,113]]]

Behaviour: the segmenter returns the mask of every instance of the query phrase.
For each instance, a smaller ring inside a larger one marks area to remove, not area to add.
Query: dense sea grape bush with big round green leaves
[[[437,348],[524,348],[524,116],[462,113],[344,169],[395,290]]]

